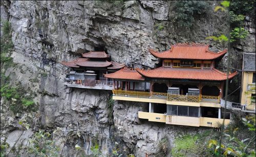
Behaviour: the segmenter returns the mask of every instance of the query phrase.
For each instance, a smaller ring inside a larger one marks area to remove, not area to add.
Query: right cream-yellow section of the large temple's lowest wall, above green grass
[[[211,122],[211,124],[207,124],[207,122]],[[200,126],[220,127],[222,122],[223,122],[223,119],[200,117]],[[229,122],[230,122],[229,119],[225,119],[224,125],[229,124]]]

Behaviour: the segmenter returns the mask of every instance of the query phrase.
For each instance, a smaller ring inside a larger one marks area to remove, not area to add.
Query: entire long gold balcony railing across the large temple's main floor
[[[116,96],[127,97],[140,97],[140,98],[154,98],[154,99],[166,99],[167,101],[186,101],[186,102],[220,102],[220,96],[208,96],[208,95],[179,95],[179,94],[167,94],[159,92],[139,92],[139,91],[125,91],[125,90],[112,90]]]

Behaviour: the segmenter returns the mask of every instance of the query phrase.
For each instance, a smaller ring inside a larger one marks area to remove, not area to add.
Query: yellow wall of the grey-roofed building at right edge
[[[255,92],[247,92],[247,86],[248,84],[252,83],[252,76],[253,73],[252,72],[243,72],[242,75],[242,91],[241,91],[241,104],[247,104],[247,110],[254,110],[255,109],[255,104],[254,106],[250,106],[251,104],[251,93],[255,93]]]

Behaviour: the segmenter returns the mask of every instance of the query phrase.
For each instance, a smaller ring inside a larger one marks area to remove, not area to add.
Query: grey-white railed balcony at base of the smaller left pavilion
[[[113,89],[113,81],[93,81],[90,83],[91,86],[84,86],[84,81],[72,82],[69,80],[65,80],[64,85],[73,88],[85,88],[85,89],[101,89],[101,90],[112,90]]]

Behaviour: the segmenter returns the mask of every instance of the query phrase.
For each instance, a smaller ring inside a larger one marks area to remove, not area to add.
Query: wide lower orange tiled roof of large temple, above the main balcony
[[[189,69],[189,68],[168,68],[160,67],[154,70],[136,69],[141,75],[159,79],[189,79],[189,80],[209,80],[223,81],[227,79],[227,75],[217,69]],[[232,79],[237,72],[229,74]]]

